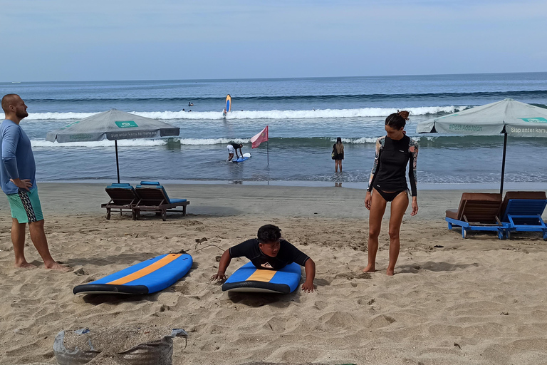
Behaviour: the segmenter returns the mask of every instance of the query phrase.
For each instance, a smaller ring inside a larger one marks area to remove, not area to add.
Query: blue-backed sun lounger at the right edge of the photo
[[[547,240],[547,225],[541,215],[547,206],[543,191],[508,191],[501,206],[502,220],[507,225],[506,237],[511,232],[542,232]]]

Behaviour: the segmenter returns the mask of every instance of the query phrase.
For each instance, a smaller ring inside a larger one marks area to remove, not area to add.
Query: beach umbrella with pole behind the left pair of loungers
[[[52,130],[46,135],[46,140],[58,143],[113,140],[116,149],[118,183],[120,183],[118,140],[158,138],[169,135],[179,135],[179,128],[160,120],[110,109],[69,124],[65,128]]]

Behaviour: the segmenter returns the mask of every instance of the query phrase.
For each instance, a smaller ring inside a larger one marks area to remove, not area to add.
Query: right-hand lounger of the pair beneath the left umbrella
[[[167,220],[167,212],[181,212],[186,215],[186,206],[190,204],[186,199],[170,198],[163,185],[157,181],[141,181],[135,187],[135,192],[139,200],[132,208],[133,220],[138,220],[142,211],[155,212],[162,216],[162,220]],[[182,207],[182,210],[176,210],[176,207]]]

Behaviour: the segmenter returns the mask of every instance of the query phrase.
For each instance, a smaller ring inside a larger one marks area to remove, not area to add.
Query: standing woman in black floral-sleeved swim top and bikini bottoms
[[[390,216],[390,262],[387,264],[387,274],[393,275],[397,257],[399,257],[399,231],[402,216],[408,207],[408,187],[405,172],[412,192],[412,213],[418,212],[416,193],[416,163],[418,144],[405,134],[405,124],[408,120],[406,110],[389,115],[385,119],[387,135],[376,141],[376,155],[373,170],[370,173],[365,207],[370,210],[368,230],[368,265],[363,272],[374,272],[376,252],[378,250],[378,235],[382,226],[382,217],[387,202],[391,202]],[[410,164],[409,164],[410,161]]]

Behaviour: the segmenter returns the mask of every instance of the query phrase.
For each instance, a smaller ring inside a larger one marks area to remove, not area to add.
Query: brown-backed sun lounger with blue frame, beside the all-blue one
[[[504,237],[508,224],[499,220],[501,194],[484,192],[464,192],[457,210],[447,210],[444,220],[448,229],[462,227],[462,237],[467,238],[469,231],[497,232],[498,238]]]

